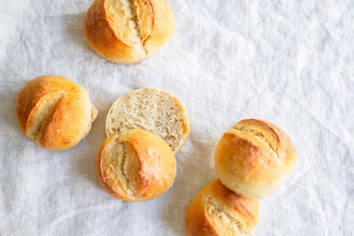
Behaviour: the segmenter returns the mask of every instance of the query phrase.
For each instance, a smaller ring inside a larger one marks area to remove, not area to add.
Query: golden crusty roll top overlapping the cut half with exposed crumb
[[[129,202],[161,196],[176,177],[176,159],[169,146],[141,129],[130,129],[104,140],[95,167],[103,188]]]

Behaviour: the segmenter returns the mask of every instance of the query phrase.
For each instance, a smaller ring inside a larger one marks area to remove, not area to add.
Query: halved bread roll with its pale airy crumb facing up
[[[173,94],[158,88],[141,88],[116,100],[107,115],[107,137],[128,129],[155,134],[176,154],[188,138],[190,122],[187,109]]]

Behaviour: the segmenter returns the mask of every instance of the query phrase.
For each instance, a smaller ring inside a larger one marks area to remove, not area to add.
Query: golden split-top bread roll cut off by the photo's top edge
[[[84,20],[89,45],[117,64],[152,56],[174,30],[175,19],[166,0],[96,0]]]

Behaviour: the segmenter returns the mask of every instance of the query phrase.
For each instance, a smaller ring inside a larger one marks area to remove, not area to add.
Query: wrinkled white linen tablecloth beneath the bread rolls
[[[0,235],[187,235],[185,212],[217,178],[213,152],[232,125],[271,121],[297,148],[291,178],[261,200],[255,236],[353,235],[354,1],[170,0],[176,29],[155,56],[132,65],[99,57],[82,34],[92,0],[0,4]],[[27,138],[16,98],[45,74],[72,77],[99,110],[67,151]],[[186,105],[189,139],[163,196],[108,195],[94,161],[105,117],[126,92],[158,87]]]

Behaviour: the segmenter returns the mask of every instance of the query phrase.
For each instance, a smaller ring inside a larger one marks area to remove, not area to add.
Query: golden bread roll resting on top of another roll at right
[[[295,146],[278,126],[263,120],[242,120],[224,133],[215,150],[221,183],[243,197],[273,194],[292,174]]]

